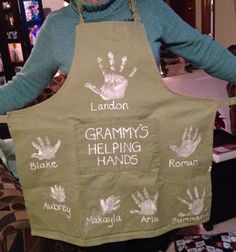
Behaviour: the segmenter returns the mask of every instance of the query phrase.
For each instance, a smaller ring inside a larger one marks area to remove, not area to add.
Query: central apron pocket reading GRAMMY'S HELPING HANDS
[[[80,174],[159,168],[159,127],[154,119],[80,124],[76,135]]]

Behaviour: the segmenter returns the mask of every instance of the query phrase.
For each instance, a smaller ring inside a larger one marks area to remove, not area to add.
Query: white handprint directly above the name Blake
[[[37,140],[38,143],[32,142],[32,145],[38,150],[38,153],[33,153],[31,157],[39,160],[55,158],[55,154],[61,146],[61,140],[57,140],[54,146],[51,145],[47,136],[45,137],[45,143],[40,137]]]

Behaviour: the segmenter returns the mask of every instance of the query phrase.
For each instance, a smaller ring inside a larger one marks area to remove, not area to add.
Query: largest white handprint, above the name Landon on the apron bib
[[[125,90],[128,86],[128,80],[121,75],[124,70],[127,57],[124,56],[122,58],[119,73],[115,73],[115,60],[112,52],[108,53],[108,59],[110,62],[110,73],[105,72],[102,64],[102,58],[97,58],[98,65],[104,77],[104,84],[100,88],[97,88],[91,83],[86,83],[85,87],[91,89],[94,93],[99,94],[103,100],[121,99],[125,96]],[[129,78],[132,78],[136,71],[137,68],[134,67],[133,71],[129,74]]]

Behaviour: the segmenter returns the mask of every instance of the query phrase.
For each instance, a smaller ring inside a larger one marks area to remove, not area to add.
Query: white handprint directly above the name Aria
[[[132,194],[134,202],[138,205],[140,210],[131,210],[132,214],[141,215],[154,215],[157,211],[156,203],[158,199],[158,192],[155,194],[154,199],[151,200],[150,195],[146,188],[143,189],[143,195],[137,191],[136,196]]]

